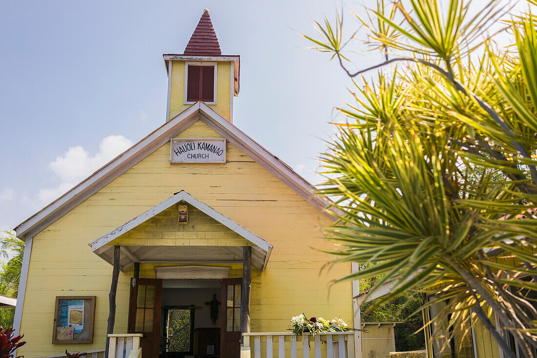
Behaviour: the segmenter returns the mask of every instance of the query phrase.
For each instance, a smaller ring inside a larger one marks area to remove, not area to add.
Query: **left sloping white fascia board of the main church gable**
[[[161,145],[167,143],[171,137],[190,126],[194,122],[193,119],[197,120],[195,114],[198,113],[198,110],[199,103],[188,107],[185,111],[164,123],[164,125],[143,138],[140,142],[112,159],[70,191],[60,196],[60,198],[54,200],[45,208],[38,211],[38,213],[19,224],[14,229],[17,237],[25,240],[28,236],[34,236],[62,217],[69,210],[76,207],[79,203],[98,192],[113,179],[119,177],[122,173],[139,163],[140,160],[161,147]],[[31,235],[28,235],[29,233]]]

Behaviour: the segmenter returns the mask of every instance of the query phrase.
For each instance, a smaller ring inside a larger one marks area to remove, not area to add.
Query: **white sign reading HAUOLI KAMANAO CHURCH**
[[[225,139],[172,139],[170,163],[226,163]]]

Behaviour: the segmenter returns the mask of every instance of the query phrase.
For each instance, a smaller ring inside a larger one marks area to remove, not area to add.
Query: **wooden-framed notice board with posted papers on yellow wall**
[[[53,344],[93,343],[96,296],[56,296]]]

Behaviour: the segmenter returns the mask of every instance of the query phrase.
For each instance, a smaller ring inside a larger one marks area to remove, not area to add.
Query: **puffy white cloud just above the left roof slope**
[[[93,156],[79,145],[69,147],[62,157],[56,157],[56,160],[48,165],[55,176],[61,180],[60,185],[56,188],[41,189],[38,194],[39,200],[42,203],[49,203],[59,198],[132,144],[132,141],[122,135],[111,135],[100,142],[99,151]]]

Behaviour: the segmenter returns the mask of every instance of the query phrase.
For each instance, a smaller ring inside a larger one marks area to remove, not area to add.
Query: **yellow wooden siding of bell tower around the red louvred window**
[[[172,61],[170,85],[170,113],[172,119],[183,112],[190,104],[185,104],[185,62]],[[231,115],[231,62],[218,62],[216,75],[216,104],[208,105],[223,118],[230,120]]]

